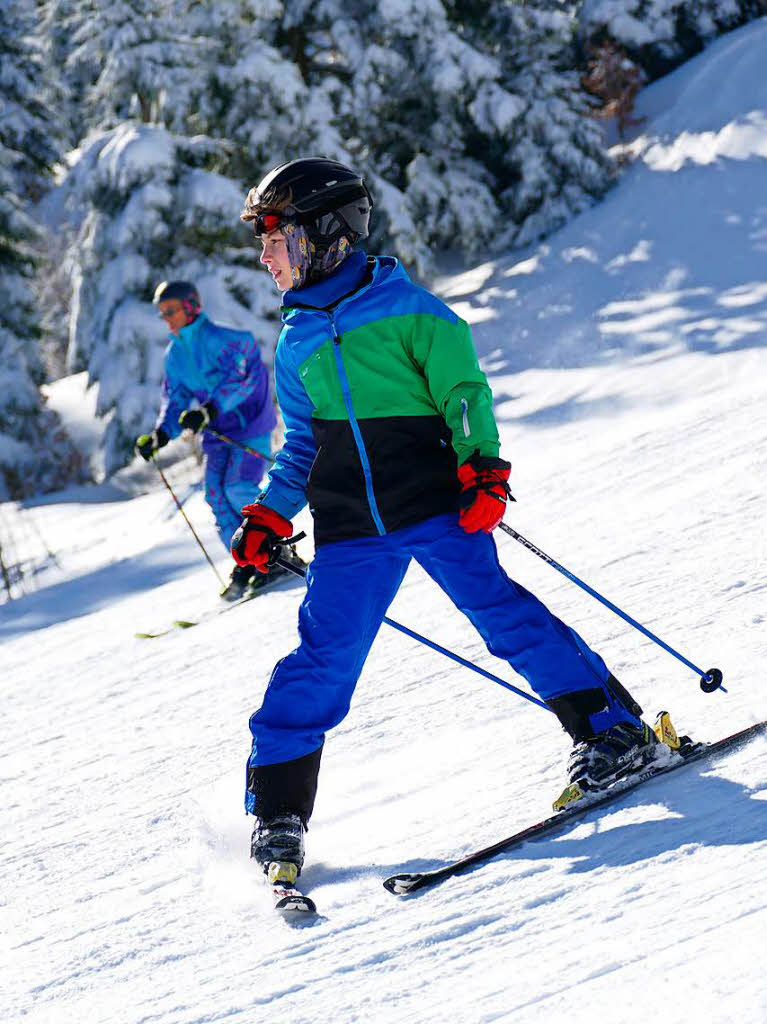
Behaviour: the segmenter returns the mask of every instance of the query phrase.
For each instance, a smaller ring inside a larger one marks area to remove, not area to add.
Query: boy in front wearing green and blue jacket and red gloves
[[[261,262],[283,292],[274,378],[285,446],[231,541],[266,571],[308,500],[316,555],[298,647],[251,717],[251,854],[271,882],[301,870],[326,732],[415,558],[555,712],[570,782],[605,784],[653,757],[641,708],[602,658],[501,568],[493,529],[511,466],[468,325],[368,234],[364,180],[323,158],[272,170],[248,194]]]

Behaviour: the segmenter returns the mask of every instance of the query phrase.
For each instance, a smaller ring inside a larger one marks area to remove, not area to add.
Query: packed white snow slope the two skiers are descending
[[[728,692],[704,694],[499,535],[504,565],[648,718],[668,709],[702,739],[767,717],[765,52],[762,20],[647,89],[635,161],[599,207],[440,282],[495,389],[509,521]],[[199,471],[169,473],[225,571]],[[301,587],[134,639],[215,605],[217,583],[159,481],[131,497],[126,475],[2,510],[57,562],[0,609],[4,1022],[767,1019],[767,740],[397,899],[393,871],[545,816],[568,743],[386,628],[326,745],[304,873],[319,918],[276,919],[248,859],[244,766]],[[391,615],[524,685],[416,568]]]

